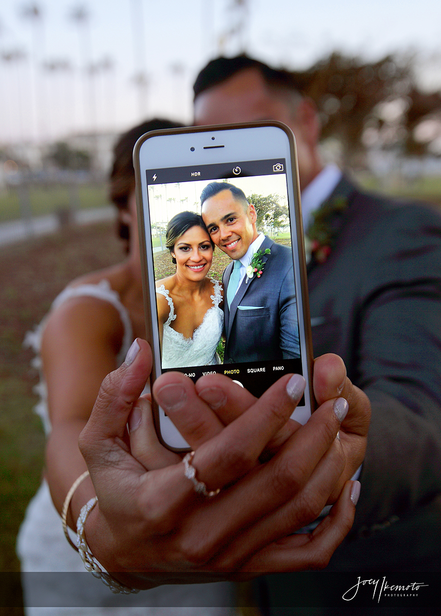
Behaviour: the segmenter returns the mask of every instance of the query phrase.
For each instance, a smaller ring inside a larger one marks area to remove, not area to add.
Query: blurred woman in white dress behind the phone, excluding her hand
[[[119,235],[127,240],[127,257],[73,281],[27,338],[41,369],[41,401],[36,410],[44,421],[48,444],[45,479],[26,511],[17,542],[26,616],[229,616],[234,612],[233,607],[223,607],[234,601],[229,582],[172,584],[139,594],[112,594],[86,572],[64,537],[60,517],[69,488],[86,470],[78,436],[100,384],[124,361],[132,340],[145,338],[132,151],[145,132],[172,126],[176,124],[161,120],[143,123],[116,144],[110,197],[118,207]],[[90,477],[75,490],[68,517],[71,528],[94,493]]]

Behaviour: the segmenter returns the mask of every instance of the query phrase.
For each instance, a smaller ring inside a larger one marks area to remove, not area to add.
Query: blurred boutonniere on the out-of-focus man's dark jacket
[[[305,233],[305,255],[309,263],[314,256],[318,263],[325,263],[331,254],[338,232],[334,214],[341,214],[348,206],[347,198],[336,197],[326,201],[312,214],[313,222]]]

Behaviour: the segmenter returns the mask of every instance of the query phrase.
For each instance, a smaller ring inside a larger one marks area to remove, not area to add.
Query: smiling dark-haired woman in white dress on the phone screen
[[[214,244],[202,216],[172,217],[166,246],[176,274],[156,282],[163,368],[221,363],[216,353],[224,326],[222,287],[208,277]]]

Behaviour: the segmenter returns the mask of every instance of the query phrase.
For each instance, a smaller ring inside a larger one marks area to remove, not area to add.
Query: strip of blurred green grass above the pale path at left
[[[89,209],[108,205],[105,184],[10,187],[0,191],[0,222],[19,219],[23,211],[32,216],[62,209]]]

